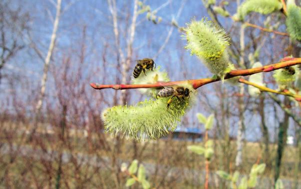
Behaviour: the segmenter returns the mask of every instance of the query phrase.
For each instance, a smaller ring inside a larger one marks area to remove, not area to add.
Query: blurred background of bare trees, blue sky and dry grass
[[[204,157],[187,150],[203,143],[204,125],[196,117],[201,112],[215,115],[209,188],[229,186],[218,170],[248,175],[253,164],[265,163],[256,188],[273,188],[280,178],[285,188],[300,189],[301,125],[285,109],[295,118],[301,111],[283,96],[277,96],[281,107],[268,94],[252,97],[247,86],[216,82],[198,89],[196,105],[164,138],[137,142],[104,132],[104,108],[145,96],[137,90],[97,91],[89,84],[130,83],[135,60],[153,58],[171,81],[212,77],[184,49],[181,27],[192,19],[206,16],[225,28],[237,69],[251,67],[250,54],[263,65],[301,57],[288,36],[244,28],[206,2],[1,0],[0,188],[122,189],[128,176],[120,165],[134,159],[144,164],[152,188],[203,188]],[[240,0],[228,2],[216,5],[233,15]],[[252,13],[246,22],[267,20],[286,32],[281,13]],[[264,80],[278,88],[271,73]]]

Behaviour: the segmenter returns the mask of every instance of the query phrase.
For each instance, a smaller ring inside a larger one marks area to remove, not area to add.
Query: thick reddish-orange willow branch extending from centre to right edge
[[[294,66],[297,64],[301,64],[301,58],[291,58],[287,57],[281,60],[281,62],[277,64],[271,64],[263,67],[258,68],[251,68],[245,70],[232,70],[225,76],[225,80],[234,78],[237,76],[249,76],[260,72],[271,72],[274,70],[278,70],[281,68]],[[101,89],[115,89],[115,90],[125,90],[125,89],[139,89],[139,88],[157,88],[162,89],[166,86],[172,85],[181,85],[184,83],[190,83],[194,89],[198,89],[199,87],[210,84],[213,82],[220,81],[220,78],[205,78],[205,79],[198,79],[198,80],[184,80],[184,81],[176,81],[176,82],[157,82],[155,84],[140,84],[140,85],[127,85],[127,84],[113,84],[113,85],[101,85],[101,84],[94,84],[91,83],[90,86],[94,89],[101,90]]]

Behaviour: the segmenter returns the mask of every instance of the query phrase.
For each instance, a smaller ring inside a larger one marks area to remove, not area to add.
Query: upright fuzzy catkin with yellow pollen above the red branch
[[[230,44],[225,30],[204,18],[191,21],[184,30],[184,38],[187,39],[185,48],[202,59],[213,74],[224,78],[225,72],[229,70],[226,48]]]

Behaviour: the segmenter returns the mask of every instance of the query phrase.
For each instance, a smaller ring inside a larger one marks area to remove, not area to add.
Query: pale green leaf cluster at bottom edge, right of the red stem
[[[239,184],[239,189],[248,189],[255,188],[257,185],[257,177],[260,174],[263,174],[266,169],[266,164],[254,164],[252,166],[251,172],[249,174],[249,179],[247,176],[244,176],[239,183],[239,175],[238,171],[235,171],[233,175],[228,174],[224,171],[217,171],[217,175],[226,180],[230,181],[232,188],[237,188]]]

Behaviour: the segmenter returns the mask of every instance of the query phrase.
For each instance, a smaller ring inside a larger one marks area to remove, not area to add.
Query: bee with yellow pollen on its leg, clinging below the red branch
[[[178,100],[185,99],[184,97],[190,97],[189,94],[192,93],[192,91],[190,91],[188,88],[184,88],[184,87],[180,87],[180,86],[169,86],[169,87],[164,87],[164,89],[162,89],[161,91],[159,91],[158,96],[159,97],[168,97],[168,96],[172,96],[171,98],[169,98],[169,100],[167,101],[167,109],[169,107],[169,105],[172,102],[172,98],[173,97],[177,97]]]

